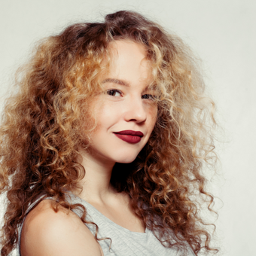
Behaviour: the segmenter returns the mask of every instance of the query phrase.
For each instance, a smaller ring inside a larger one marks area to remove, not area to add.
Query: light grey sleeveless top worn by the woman
[[[34,203],[32,203],[26,211],[26,214],[38,203],[44,195],[38,197]],[[44,200],[50,199],[51,197],[44,198]],[[102,215],[95,207],[82,200],[80,197],[75,196],[69,192],[69,196],[66,197],[69,203],[80,203],[87,209],[87,221],[93,221],[99,227],[99,232],[97,234],[98,238],[109,237],[111,238],[111,248],[109,249],[110,239],[100,240],[99,245],[102,247],[104,256],[195,256],[194,251],[187,244],[187,250],[181,250],[178,248],[166,248],[164,247],[158,239],[154,236],[151,230],[145,230],[145,233],[133,232],[127,230],[124,227],[119,226],[114,223],[105,215]],[[80,218],[82,216],[82,209],[73,209],[76,215]],[[17,255],[20,254],[20,235],[23,228],[25,218],[22,224],[18,227],[18,242],[17,242]],[[95,235],[96,228],[93,224],[86,224],[89,230]]]

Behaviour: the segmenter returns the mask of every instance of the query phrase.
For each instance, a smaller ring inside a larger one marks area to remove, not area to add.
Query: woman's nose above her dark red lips
[[[126,102],[124,120],[126,120],[126,122],[134,121],[136,123],[143,123],[147,120],[147,111],[141,97],[137,99],[133,97],[133,99]]]

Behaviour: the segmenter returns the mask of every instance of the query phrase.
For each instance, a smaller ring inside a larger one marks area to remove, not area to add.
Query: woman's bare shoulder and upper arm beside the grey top
[[[22,256],[102,256],[99,243],[78,215],[66,209],[54,212],[51,201],[41,201],[27,215],[20,240]]]

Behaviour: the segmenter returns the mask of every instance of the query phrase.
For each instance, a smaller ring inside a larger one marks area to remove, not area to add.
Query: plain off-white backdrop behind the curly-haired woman
[[[219,198],[216,245],[220,255],[256,255],[255,1],[0,0],[0,97],[35,41],[71,23],[100,21],[124,9],[180,35],[203,60],[207,90],[223,128],[216,148],[221,164],[210,187]]]

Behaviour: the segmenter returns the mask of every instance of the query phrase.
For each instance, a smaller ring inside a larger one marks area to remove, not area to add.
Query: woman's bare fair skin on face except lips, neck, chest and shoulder
[[[135,232],[145,232],[142,222],[130,207],[130,197],[117,193],[110,184],[115,163],[130,163],[148,142],[157,120],[157,105],[148,89],[150,63],[142,45],[132,41],[114,41],[108,74],[102,76],[102,91],[92,109],[96,130],[88,151],[81,151],[86,170],[79,197],[92,204],[107,218]],[[100,104],[99,104],[100,102]],[[136,144],[124,142],[114,133],[122,130],[144,134]],[[23,256],[103,255],[99,243],[80,218],[66,209],[54,212],[51,200],[38,204],[25,219],[21,236]]]

